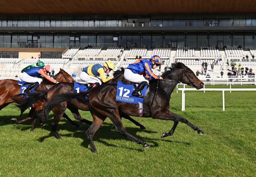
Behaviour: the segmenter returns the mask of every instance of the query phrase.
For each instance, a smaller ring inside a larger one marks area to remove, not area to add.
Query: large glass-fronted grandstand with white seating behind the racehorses
[[[221,57],[220,67],[228,60],[240,61],[243,55],[249,55],[244,64],[255,62],[256,2],[252,0],[23,0],[1,5],[0,58],[12,61],[9,66],[2,64],[1,76],[18,74],[16,70],[34,62],[28,58],[38,54],[54,67],[76,74],[85,65],[106,60],[116,68],[127,66],[136,55],[161,55],[165,66],[178,58],[196,65],[195,72],[201,69],[201,62],[194,62],[199,57],[211,59],[209,63]]]

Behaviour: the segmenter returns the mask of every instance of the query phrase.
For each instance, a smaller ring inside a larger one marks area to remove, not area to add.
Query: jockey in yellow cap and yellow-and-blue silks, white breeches
[[[91,90],[101,85],[102,82],[108,82],[110,79],[113,79],[114,76],[105,77],[105,73],[108,74],[111,70],[114,70],[114,64],[110,61],[106,61],[103,66],[100,64],[92,64],[82,70],[80,78],[82,81],[91,84],[91,87],[88,88],[88,90]]]

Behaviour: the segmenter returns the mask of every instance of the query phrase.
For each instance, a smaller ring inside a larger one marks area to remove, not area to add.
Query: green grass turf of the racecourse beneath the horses
[[[62,139],[58,140],[49,126],[52,113],[43,127],[37,123],[30,132],[30,122],[16,125],[10,120],[20,113],[12,104],[0,112],[0,176],[255,176],[255,94],[225,92],[223,112],[222,92],[187,91],[182,112],[181,92],[173,92],[170,110],[205,135],[179,123],[173,136],[160,138],[170,131],[172,121],[135,117],[147,128],[141,130],[123,120],[127,132],[151,146],[144,149],[112,130],[107,119],[94,136],[97,153],[91,152],[85,139],[88,125],[76,121],[82,125],[77,129],[63,119],[58,127]],[[92,120],[89,112],[80,113]],[[68,116],[74,120],[70,112]]]

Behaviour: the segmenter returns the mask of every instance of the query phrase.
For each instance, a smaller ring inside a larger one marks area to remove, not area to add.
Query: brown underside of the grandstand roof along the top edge
[[[5,0],[0,14],[164,14],[256,12],[255,0]]]

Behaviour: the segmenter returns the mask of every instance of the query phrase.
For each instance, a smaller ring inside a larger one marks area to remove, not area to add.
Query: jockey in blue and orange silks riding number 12
[[[126,80],[140,83],[132,92],[132,96],[143,98],[144,96],[141,91],[148,85],[150,79],[163,79],[161,76],[156,76],[151,70],[156,69],[159,65],[162,65],[162,59],[159,56],[154,55],[150,60],[139,59],[124,70],[124,78]]]

